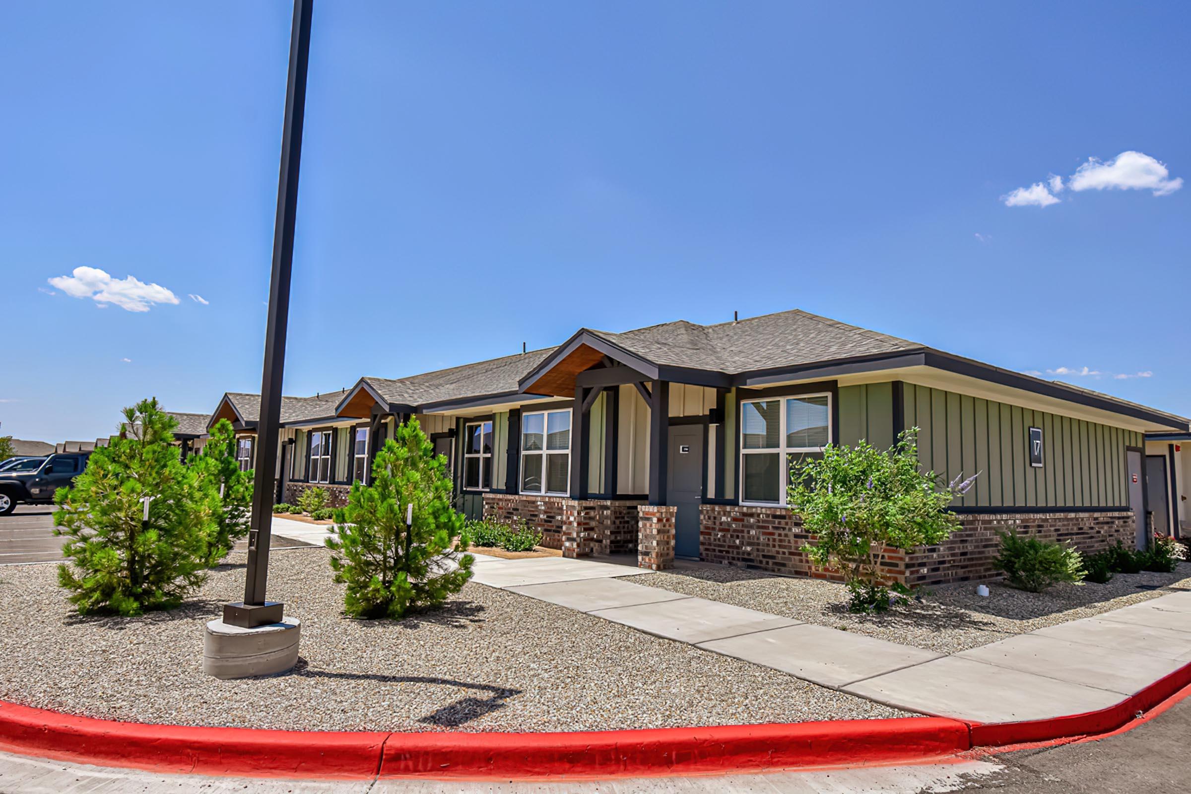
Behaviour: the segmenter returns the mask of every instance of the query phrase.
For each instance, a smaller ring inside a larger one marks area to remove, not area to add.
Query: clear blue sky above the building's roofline
[[[0,432],[260,388],[289,14],[0,5]],[[1189,17],[322,0],[286,393],[799,307],[1189,414]]]

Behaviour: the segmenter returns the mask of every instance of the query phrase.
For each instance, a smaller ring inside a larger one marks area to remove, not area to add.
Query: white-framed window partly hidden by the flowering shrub
[[[831,439],[831,395],[741,402],[741,501],[785,505],[790,463]]]

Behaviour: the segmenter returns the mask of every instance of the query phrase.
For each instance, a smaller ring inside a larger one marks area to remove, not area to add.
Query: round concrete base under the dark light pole
[[[211,620],[202,639],[202,671],[217,679],[286,673],[298,663],[300,636],[298,618],[255,629]]]

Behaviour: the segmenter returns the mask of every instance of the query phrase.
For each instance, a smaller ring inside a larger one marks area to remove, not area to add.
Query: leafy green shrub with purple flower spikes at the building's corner
[[[828,444],[821,459],[790,465],[786,501],[815,537],[803,550],[815,565],[843,576],[852,612],[890,607],[883,549],[935,545],[959,526],[959,517],[947,507],[975,476],[943,484],[934,471],[923,473],[917,434],[917,427],[903,432],[888,451],[863,440],[855,446]]]

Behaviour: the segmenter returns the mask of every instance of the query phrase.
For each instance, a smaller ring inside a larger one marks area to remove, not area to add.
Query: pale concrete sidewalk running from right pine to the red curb
[[[624,581],[588,559],[478,559],[475,582],[912,712],[1016,723],[1112,706],[1191,663],[1191,592],[941,656]]]

